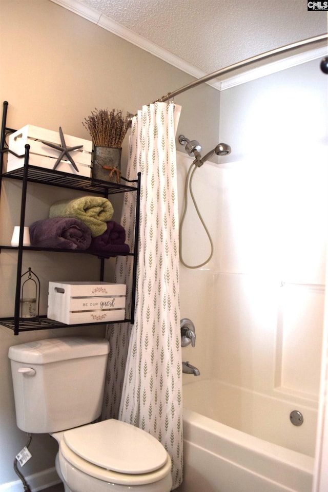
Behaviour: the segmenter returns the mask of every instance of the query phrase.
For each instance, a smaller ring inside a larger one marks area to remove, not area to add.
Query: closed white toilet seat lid
[[[119,420],[64,432],[67,446],[89,463],[124,474],[145,474],[167,462],[165,448],[150,434]]]

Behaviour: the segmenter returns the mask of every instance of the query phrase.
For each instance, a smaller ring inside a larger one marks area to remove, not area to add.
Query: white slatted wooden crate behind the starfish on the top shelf
[[[59,162],[55,171],[63,171],[64,173],[87,176],[90,178],[92,141],[72,137],[71,135],[64,135],[64,139],[67,147],[83,145],[82,148],[72,150],[72,152],[69,153],[79,171],[77,172],[76,169],[74,169],[66,156]],[[8,141],[9,149],[18,156],[23,157],[16,157],[8,152],[7,172],[14,171],[14,169],[24,166],[26,144],[30,145],[29,165],[53,169],[53,166],[60,155],[60,151],[45,145],[42,141],[61,146],[59,131],[26,125],[11,134]]]

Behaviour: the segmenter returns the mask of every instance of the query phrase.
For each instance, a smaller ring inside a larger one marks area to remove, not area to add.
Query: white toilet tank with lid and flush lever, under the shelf
[[[30,433],[96,420],[103,403],[108,340],[48,338],[9,348],[16,421]]]

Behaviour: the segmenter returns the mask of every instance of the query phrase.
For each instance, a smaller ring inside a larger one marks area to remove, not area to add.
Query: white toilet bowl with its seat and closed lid
[[[65,492],[170,492],[171,460],[147,432],[107,420],[51,434]]]

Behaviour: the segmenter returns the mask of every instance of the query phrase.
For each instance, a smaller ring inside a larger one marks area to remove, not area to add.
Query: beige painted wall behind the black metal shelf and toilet
[[[1,101],[9,102],[7,126],[12,128],[33,124],[57,130],[61,126],[64,133],[89,138],[81,122],[95,107],[134,113],[191,81],[189,75],[48,0],[1,0],[0,23],[0,94]],[[182,105],[180,133],[197,138],[204,148],[212,148],[218,133],[219,92],[203,86],[175,101]],[[126,154],[127,139],[122,163]],[[20,184],[10,181],[2,187],[1,244],[10,243],[18,221]],[[31,184],[27,224],[46,218],[51,203],[72,193]],[[24,255],[23,268],[31,266],[42,282],[42,311],[46,309],[50,278],[98,279],[98,261],[83,256],[86,261],[81,268],[81,257],[77,256]],[[1,316],[13,315],[16,259],[16,253],[2,250]],[[29,332],[15,337],[0,326],[0,485],[17,479],[12,462],[27,439],[16,428],[8,347],[32,339],[83,333],[102,336],[103,328]],[[52,438],[35,436],[33,458],[24,467],[24,474],[53,466],[55,449]]]

